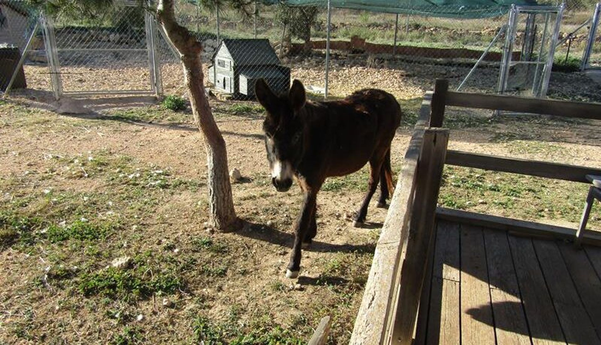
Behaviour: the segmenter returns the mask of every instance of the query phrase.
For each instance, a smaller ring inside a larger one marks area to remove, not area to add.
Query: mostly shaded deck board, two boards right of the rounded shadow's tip
[[[532,240],[515,236],[508,239],[532,344],[565,344]]]

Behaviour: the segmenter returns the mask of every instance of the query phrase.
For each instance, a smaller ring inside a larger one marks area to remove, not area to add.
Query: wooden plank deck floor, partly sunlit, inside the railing
[[[439,220],[416,344],[601,344],[601,248]]]

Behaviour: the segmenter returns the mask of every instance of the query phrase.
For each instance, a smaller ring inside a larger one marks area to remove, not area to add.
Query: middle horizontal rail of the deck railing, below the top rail
[[[519,173],[543,178],[563,179],[586,184],[590,182],[587,181],[585,176],[599,175],[601,173],[601,170],[592,167],[472,154],[470,152],[454,150],[447,152],[447,164],[498,172]]]

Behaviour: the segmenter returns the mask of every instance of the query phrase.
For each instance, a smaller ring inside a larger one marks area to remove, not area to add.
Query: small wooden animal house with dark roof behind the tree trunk
[[[290,89],[290,68],[282,66],[269,40],[222,40],[209,67],[216,91],[254,98],[255,81],[265,79],[273,92]]]

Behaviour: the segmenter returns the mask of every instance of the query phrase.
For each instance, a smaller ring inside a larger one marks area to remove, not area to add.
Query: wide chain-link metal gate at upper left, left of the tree
[[[135,2],[98,19],[42,16],[41,24],[55,98],[161,93],[156,20]]]

